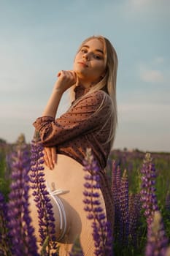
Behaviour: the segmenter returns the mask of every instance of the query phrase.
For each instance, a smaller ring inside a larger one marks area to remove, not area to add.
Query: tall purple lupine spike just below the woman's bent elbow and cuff
[[[50,203],[50,195],[45,184],[45,173],[43,173],[43,147],[39,143],[39,137],[36,134],[31,144],[31,171],[30,181],[31,189],[33,189],[34,201],[39,218],[39,236],[41,245],[43,245],[48,237],[47,250],[56,249],[55,246],[55,218],[53,214],[53,206]]]

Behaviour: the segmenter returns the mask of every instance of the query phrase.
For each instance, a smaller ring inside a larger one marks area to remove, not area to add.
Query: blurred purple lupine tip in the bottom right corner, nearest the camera
[[[165,256],[168,247],[165,229],[160,211],[155,211],[153,221],[150,225],[150,234],[147,236],[145,256]]]

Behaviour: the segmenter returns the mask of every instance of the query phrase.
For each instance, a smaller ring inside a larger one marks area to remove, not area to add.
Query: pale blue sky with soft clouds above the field
[[[0,0],[0,138],[31,142],[56,74],[101,34],[119,61],[114,148],[170,151],[169,30],[169,0]]]

